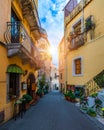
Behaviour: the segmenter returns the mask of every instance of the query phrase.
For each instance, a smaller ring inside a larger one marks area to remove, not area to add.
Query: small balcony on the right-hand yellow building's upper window
[[[69,49],[70,50],[75,50],[79,47],[84,45],[84,34],[79,33],[79,34],[72,34],[70,36],[70,44],[69,44]]]

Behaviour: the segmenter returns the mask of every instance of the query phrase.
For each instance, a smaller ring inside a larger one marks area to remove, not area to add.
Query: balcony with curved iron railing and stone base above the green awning
[[[7,22],[7,30],[5,32],[5,41],[7,46],[8,57],[18,56],[23,64],[30,64],[36,68],[39,61],[39,51],[30,39],[21,22]]]

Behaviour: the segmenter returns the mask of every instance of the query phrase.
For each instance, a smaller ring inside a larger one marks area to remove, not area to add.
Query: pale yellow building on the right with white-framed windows
[[[103,0],[81,0],[79,3],[71,0],[64,8],[64,82],[67,83],[66,88],[84,87],[86,95],[103,87],[98,83],[100,78],[104,80],[103,3]],[[74,8],[71,8],[72,4]]]

